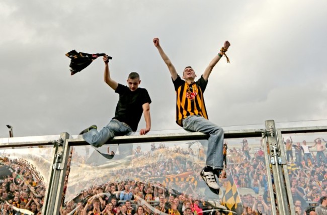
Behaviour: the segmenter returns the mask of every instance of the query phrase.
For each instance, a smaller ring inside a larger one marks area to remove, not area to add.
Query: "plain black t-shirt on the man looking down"
[[[119,94],[119,100],[113,119],[126,123],[135,132],[142,117],[142,105],[144,103],[151,103],[149,93],[146,89],[140,87],[135,91],[131,91],[127,86],[120,83],[115,92]]]

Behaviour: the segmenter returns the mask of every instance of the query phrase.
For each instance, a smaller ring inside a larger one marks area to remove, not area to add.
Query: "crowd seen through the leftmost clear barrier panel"
[[[1,157],[1,215],[41,214],[45,189],[43,178],[28,161]]]

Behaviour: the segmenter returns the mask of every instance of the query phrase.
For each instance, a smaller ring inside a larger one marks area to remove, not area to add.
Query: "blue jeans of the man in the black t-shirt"
[[[91,129],[89,132],[84,133],[83,139],[94,147],[100,147],[115,136],[131,135],[132,132],[132,129],[126,123],[112,119],[100,132]]]

